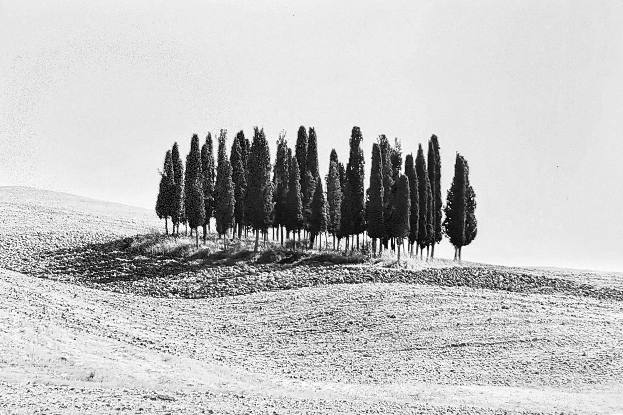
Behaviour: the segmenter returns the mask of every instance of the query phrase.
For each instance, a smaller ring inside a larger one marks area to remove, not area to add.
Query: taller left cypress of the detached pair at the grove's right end
[[[454,246],[454,259],[459,257],[459,249],[465,244],[465,212],[466,212],[466,170],[465,159],[457,153],[454,163],[454,178],[448,189],[445,219],[442,224],[445,235]]]

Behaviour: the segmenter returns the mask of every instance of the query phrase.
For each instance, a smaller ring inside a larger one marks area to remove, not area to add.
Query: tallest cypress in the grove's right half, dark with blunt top
[[[359,247],[359,234],[366,230],[365,212],[365,189],[364,189],[364,163],[361,141],[363,136],[358,126],[353,126],[350,138],[350,156],[346,166],[346,186],[350,186],[350,191],[345,194],[350,196],[348,203],[350,209],[350,219],[348,230],[357,236],[357,246]]]

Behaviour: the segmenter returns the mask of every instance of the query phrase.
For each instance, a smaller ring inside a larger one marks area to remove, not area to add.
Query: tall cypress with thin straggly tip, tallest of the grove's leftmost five
[[[235,196],[234,182],[232,181],[232,165],[227,158],[227,130],[221,129],[219,136],[219,165],[216,168],[216,184],[214,185],[214,218],[216,232],[219,237],[226,236],[234,221]],[[224,238],[224,247],[227,249],[227,236]]]

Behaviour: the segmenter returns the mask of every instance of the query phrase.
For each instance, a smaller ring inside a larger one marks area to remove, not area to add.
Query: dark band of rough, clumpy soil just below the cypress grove
[[[195,250],[189,241],[158,235],[123,237],[20,257],[11,269],[155,297],[222,297],[326,284],[403,282],[623,300],[619,289],[490,265],[390,269],[373,265],[374,259],[357,253],[312,254],[273,247],[255,254],[237,246],[215,249],[214,244]]]

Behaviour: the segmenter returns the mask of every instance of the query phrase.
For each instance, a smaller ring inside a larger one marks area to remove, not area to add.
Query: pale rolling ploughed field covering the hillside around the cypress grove
[[[131,279],[130,262],[98,280],[88,255],[50,260],[150,215],[0,188],[0,267],[23,272],[0,269],[0,414],[623,413],[617,275],[199,263]],[[193,287],[206,298],[176,298]]]

